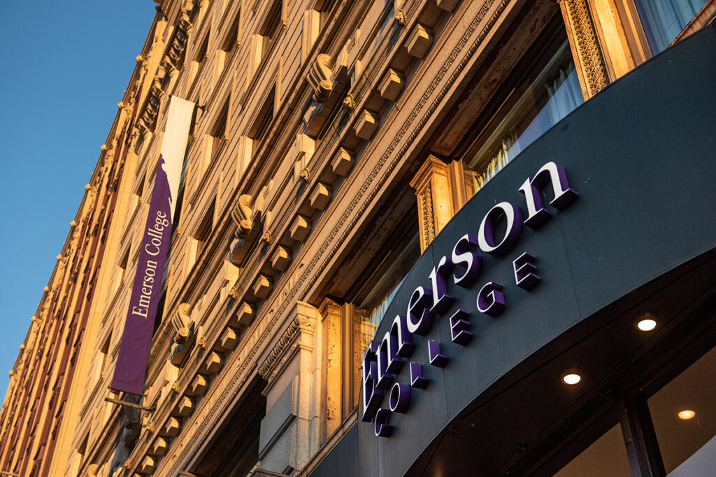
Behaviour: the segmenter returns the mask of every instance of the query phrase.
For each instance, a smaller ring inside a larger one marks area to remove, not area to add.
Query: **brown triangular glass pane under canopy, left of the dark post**
[[[555,477],[630,477],[629,458],[619,424],[554,474]]]

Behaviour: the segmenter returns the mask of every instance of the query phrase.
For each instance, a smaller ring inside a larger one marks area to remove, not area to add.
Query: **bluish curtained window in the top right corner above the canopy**
[[[652,53],[664,51],[705,3],[705,0],[634,0]]]

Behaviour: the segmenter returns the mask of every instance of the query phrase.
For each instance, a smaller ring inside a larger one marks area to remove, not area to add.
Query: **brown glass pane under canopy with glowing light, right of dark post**
[[[716,348],[649,398],[664,468],[707,475],[716,461]]]

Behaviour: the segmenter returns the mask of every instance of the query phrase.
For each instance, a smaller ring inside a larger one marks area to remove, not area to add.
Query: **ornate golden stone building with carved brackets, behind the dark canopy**
[[[359,426],[364,350],[440,230],[529,144],[716,9],[155,1],[11,372],[1,471],[309,475]],[[115,393],[172,96],[196,104],[177,225],[144,395]]]

